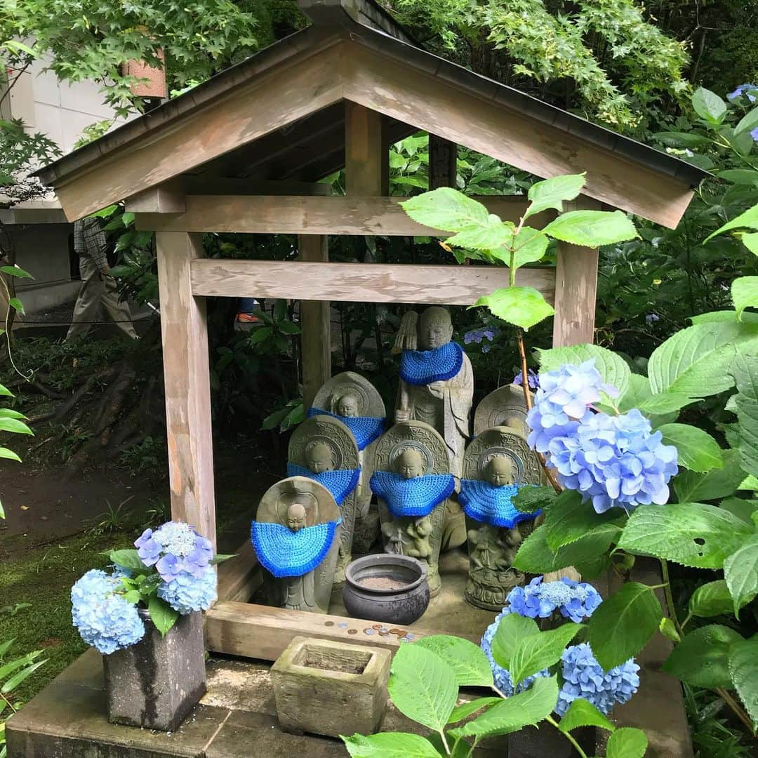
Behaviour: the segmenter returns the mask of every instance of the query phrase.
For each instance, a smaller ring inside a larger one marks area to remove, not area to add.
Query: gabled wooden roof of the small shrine
[[[708,174],[421,49],[371,0],[299,0],[312,27],[38,172],[70,219],[177,177],[315,181],[344,163],[344,101],[388,141],[426,130],[675,227]],[[254,191],[254,190],[249,190]]]

